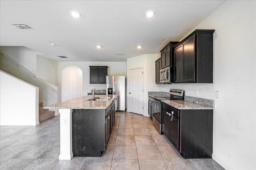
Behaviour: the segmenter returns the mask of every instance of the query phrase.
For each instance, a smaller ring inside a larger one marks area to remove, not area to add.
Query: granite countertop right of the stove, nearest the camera
[[[175,107],[176,109],[214,109],[214,107],[211,106],[196,104],[186,100],[162,100],[161,102]]]

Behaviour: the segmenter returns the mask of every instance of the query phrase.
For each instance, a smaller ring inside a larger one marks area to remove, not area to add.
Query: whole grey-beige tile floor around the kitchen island
[[[37,126],[0,126],[1,170],[223,170],[212,159],[182,159],[149,117],[117,112],[102,157],[58,160],[60,117]]]

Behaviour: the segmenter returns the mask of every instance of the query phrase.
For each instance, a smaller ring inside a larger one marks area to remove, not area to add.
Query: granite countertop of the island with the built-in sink
[[[117,98],[116,95],[95,95],[96,97],[113,96],[108,101],[87,101],[92,98],[92,95],[83,96],[80,98],[67,100],[65,102],[44,106],[44,109],[106,109]]]

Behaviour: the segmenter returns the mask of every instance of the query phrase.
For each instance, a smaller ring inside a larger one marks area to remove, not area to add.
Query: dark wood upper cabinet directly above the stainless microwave
[[[161,51],[161,65],[160,68],[165,68],[167,66],[173,66],[173,47],[179,42],[172,41],[169,42]]]

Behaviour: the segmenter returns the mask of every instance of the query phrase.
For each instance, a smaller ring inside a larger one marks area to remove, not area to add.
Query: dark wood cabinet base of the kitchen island
[[[107,109],[72,110],[73,156],[101,156],[115,123],[115,101]]]

